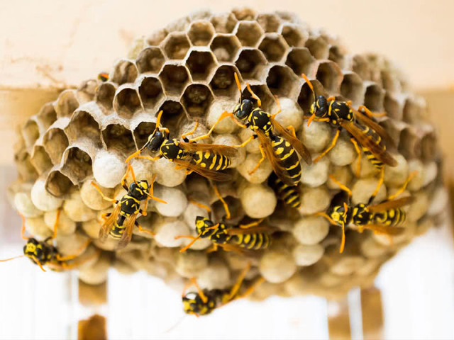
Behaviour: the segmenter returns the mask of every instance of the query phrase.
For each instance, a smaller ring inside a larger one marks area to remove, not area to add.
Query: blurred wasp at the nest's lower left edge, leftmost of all
[[[11,261],[13,259],[19,259],[21,257],[28,257],[31,261],[37,264],[42,271],[45,271],[44,266],[48,266],[48,268],[52,269],[53,271],[64,271],[70,268],[74,268],[76,266],[80,266],[82,263],[89,261],[91,257],[85,259],[84,261],[79,261],[76,263],[67,263],[72,259],[75,259],[77,256],[82,254],[85,249],[91,243],[91,240],[88,240],[76,254],[70,256],[62,256],[57,248],[52,244],[52,239],[55,239],[57,235],[57,228],[58,228],[58,220],[60,217],[60,210],[57,210],[57,215],[55,217],[55,224],[54,224],[54,233],[51,237],[46,238],[44,241],[39,241],[35,239],[35,237],[26,237],[26,219],[23,215],[22,217],[22,229],[21,229],[21,237],[22,239],[26,240],[26,244],[23,246],[23,255],[11,257],[11,259],[0,260],[0,262]],[[98,251],[99,253],[99,251]],[[95,254],[96,256],[97,254]]]

